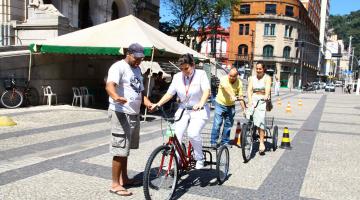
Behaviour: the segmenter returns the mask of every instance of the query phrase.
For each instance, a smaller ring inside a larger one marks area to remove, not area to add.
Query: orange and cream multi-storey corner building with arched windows
[[[233,8],[229,61],[245,74],[262,61],[281,86],[312,81],[318,71],[316,45],[319,28],[299,0],[243,0]]]

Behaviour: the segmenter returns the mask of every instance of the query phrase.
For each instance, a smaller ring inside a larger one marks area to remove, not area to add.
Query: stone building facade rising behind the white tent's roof
[[[1,45],[27,45],[133,14],[159,26],[159,0],[4,0]]]

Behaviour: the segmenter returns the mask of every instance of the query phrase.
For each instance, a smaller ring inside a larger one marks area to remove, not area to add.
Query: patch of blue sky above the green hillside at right
[[[357,10],[360,10],[360,0],[330,0],[331,15],[345,15]]]

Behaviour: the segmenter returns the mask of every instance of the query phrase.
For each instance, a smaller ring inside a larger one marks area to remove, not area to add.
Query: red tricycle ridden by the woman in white
[[[184,114],[182,110],[179,119],[166,117],[165,111],[160,108],[164,118],[167,122],[167,131],[162,131],[169,137],[167,143],[157,147],[150,155],[144,170],[143,187],[145,199],[172,199],[176,190],[177,183],[181,175],[195,168],[196,160],[192,144],[189,141],[188,146],[181,143],[174,133],[174,123],[179,121]],[[190,108],[189,108],[190,109]],[[162,127],[161,127],[162,128]],[[210,132],[208,133],[210,135]],[[203,138],[204,139],[204,138]],[[210,144],[210,137],[209,144]],[[216,162],[213,162],[212,153],[210,150],[215,150]],[[211,148],[204,146],[203,153],[205,159],[205,166],[212,168],[216,165],[216,173],[218,183],[223,183],[229,172],[229,149],[223,145],[218,148]]]

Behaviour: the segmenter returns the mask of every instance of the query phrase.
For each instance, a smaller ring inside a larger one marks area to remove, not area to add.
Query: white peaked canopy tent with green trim
[[[200,60],[207,59],[133,15],[34,43],[29,48],[31,53],[43,54],[124,55],[126,48],[134,42],[145,48],[145,56],[151,56],[151,61],[154,56],[178,57],[185,53]]]

